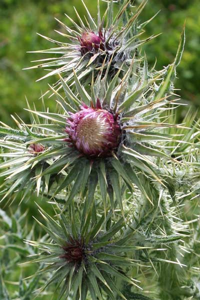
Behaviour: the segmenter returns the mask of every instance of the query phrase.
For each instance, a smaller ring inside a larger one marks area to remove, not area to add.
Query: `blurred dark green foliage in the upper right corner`
[[[138,1],[139,2],[139,1]],[[153,5],[152,5],[153,4]],[[181,98],[195,106],[200,105],[199,89],[199,41],[200,41],[199,0],[149,0],[141,17],[150,18],[160,12],[146,27],[148,34],[163,32],[155,40],[144,46],[149,63],[157,59],[157,69],[171,63],[180,37],[181,28],[186,21],[186,44],[182,60],[177,70],[175,87],[181,89]]]

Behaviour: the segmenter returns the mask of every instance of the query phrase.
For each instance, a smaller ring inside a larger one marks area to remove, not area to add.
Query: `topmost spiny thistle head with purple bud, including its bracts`
[[[105,12],[107,19],[105,21],[105,15],[101,17],[100,11],[98,10],[97,23],[94,22],[84,2],[83,5],[87,13],[85,24],[75,8],[75,13],[80,25],[76,24],[75,21],[67,15],[67,18],[69,18],[70,22],[74,25],[74,29],[71,29],[57,20],[66,31],[64,33],[56,30],[60,35],[66,38],[65,42],[53,40],[41,35],[48,41],[55,43],[56,48],[37,50],[35,52],[61,54],[57,59],[55,59],[55,57],[48,58],[47,62],[46,59],[44,59],[43,62],[39,60],[40,63],[38,65],[29,67],[42,67],[45,69],[49,69],[49,67],[52,69],[52,67],[54,67],[54,69],[42,78],[63,73],[65,80],[69,81],[72,79],[71,72],[72,68],[74,68],[77,74],[80,75],[82,79],[84,78],[84,82],[86,80],[89,83],[92,72],[94,77],[96,77],[98,74],[97,69],[102,65],[104,70],[110,66],[108,71],[110,78],[112,78],[119,69],[121,70],[122,77],[134,53],[136,53],[135,56],[138,56],[138,47],[154,38],[154,36],[150,36],[146,39],[139,40],[139,36],[144,32],[143,27],[147,21],[138,26],[136,20],[145,5],[145,1],[142,1],[137,9],[134,10],[133,8],[132,11],[129,1],[126,1],[125,4],[121,3],[116,16],[113,16],[113,1],[107,1],[107,10]],[[129,19],[125,16],[127,6],[130,9]],[[68,42],[68,40],[70,41]],[[137,59],[135,57],[135,65],[136,62]],[[55,86],[60,87],[60,80],[55,83]]]

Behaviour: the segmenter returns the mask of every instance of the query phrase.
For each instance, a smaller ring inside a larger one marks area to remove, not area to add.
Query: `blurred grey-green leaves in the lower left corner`
[[[29,206],[32,206],[31,204]],[[45,207],[45,205],[44,205]],[[48,205],[48,210],[51,207]],[[35,210],[35,208],[34,208]],[[8,212],[0,209],[0,299],[31,300],[38,284],[43,284],[43,277],[37,275],[24,279],[36,272],[38,267],[27,264],[27,256],[35,255],[32,247],[24,243],[24,239],[40,238],[43,232],[37,230],[34,220],[27,215],[28,210],[17,208]],[[35,211],[36,214],[37,211]],[[27,217],[28,216],[28,217]],[[40,218],[40,216],[38,215]],[[23,278],[23,279],[22,279]],[[9,295],[9,296],[8,296]],[[37,299],[47,300],[46,293]]]

